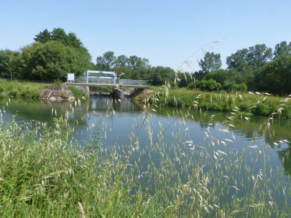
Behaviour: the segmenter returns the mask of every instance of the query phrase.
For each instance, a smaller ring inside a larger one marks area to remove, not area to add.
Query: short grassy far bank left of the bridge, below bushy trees
[[[0,94],[9,97],[39,98],[47,83],[0,80]]]

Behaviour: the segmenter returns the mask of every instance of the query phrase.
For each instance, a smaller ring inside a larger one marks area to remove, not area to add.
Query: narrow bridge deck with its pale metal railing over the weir
[[[123,86],[129,88],[147,89],[148,81],[146,80],[132,80],[132,79],[113,79],[113,78],[94,78],[94,77],[74,77],[74,80],[68,80],[68,85],[88,85],[99,87],[116,87]]]

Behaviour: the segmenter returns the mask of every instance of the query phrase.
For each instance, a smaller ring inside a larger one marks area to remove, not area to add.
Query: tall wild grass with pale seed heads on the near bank
[[[73,104],[72,111],[76,113],[80,104]],[[107,110],[114,114],[113,108]],[[57,116],[53,110],[51,125],[13,119],[0,125],[1,216],[80,217],[79,205],[86,217],[286,217],[291,213],[290,178],[272,165],[269,145],[256,137],[274,130],[271,117],[256,129],[248,146],[232,149],[231,143],[239,141],[232,125],[248,122],[239,115],[231,115],[232,120],[220,129],[223,138],[215,136],[215,128],[207,128],[203,141],[194,143],[181,141],[181,130],[165,139],[175,122],[187,128],[187,112],[166,125],[159,123],[157,130],[152,123],[158,121],[149,111],[134,118],[136,124],[124,146],[102,146],[97,121],[88,126],[95,135],[80,146],[72,138],[75,130],[68,119],[72,112]],[[215,122],[214,115],[210,121]],[[139,140],[141,131],[147,137]],[[259,163],[264,167],[258,168]]]

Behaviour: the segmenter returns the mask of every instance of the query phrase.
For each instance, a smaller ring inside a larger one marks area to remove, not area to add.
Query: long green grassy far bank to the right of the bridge
[[[283,108],[276,117],[291,118],[291,103],[285,98],[269,96],[266,94],[227,93],[227,92],[201,92],[187,89],[167,89],[149,86],[155,91],[151,103],[156,105],[169,105],[178,108],[192,107],[202,110],[225,111],[233,113],[254,114],[269,116]],[[167,97],[168,96],[168,97]],[[157,100],[156,100],[157,99]],[[285,101],[284,101],[285,100]],[[233,111],[238,107],[237,112]]]

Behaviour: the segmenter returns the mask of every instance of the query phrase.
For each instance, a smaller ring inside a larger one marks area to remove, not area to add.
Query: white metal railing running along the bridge
[[[133,80],[133,79],[114,79],[114,78],[97,78],[97,77],[74,77],[74,80],[69,80],[69,83],[100,83],[100,84],[117,84],[117,85],[136,85],[136,86],[147,86],[147,80]]]

